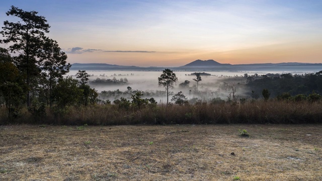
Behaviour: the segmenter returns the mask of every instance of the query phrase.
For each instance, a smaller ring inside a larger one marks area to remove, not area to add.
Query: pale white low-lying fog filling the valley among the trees
[[[158,77],[163,73],[162,71],[95,71],[95,70],[87,70],[86,71],[91,76],[90,85],[92,88],[95,88],[98,93],[102,91],[116,91],[119,89],[120,95],[113,94],[113,97],[100,97],[102,100],[110,100],[113,102],[114,99],[119,99],[120,97],[124,97],[130,99],[131,92],[133,91],[143,91],[143,98],[151,98],[153,97],[157,102],[165,103],[167,101],[167,97],[165,93],[160,91],[165,91],[165,87],[158,86]],[[71,70],[68,75],[72,75],[76,78],[76,70]],[[246,90],[245,83],[247,78],[241,78],[245,73],[248,75],[265,75],[267,73],[292,73],[292,74],[304,74],[308,72],[209,72],[211,75],[201,75],[202,81],[199,81],[198,91],[197,91],[197,82],[193,80],[196,78],[196,75],[190,75],[194,72],[187,71],[174,71],[176,76],[178,77],[178,82],[174,85],[173,89],[170,89],[170,92],[177,94],[182,91],[183,94],[188,98],[198,98],[199,100],[211,100],[213,98],[221,98],[223,100],[227,100],[227,96],[229,92],[231,92],[231,86],[236,88],[236,95],[239,98],[249,98],[250,93],[249,90]],[[313,73],[313,72],[309,72]],[[115,77],[115,78],[114,78]],[[118,82],[121,80],[121,83],[94,83],[97,79],[111,79],[117,80]],[[189,86],[182,87],[179,86],[180,83],[185,80],[190,81]],[[128,91],[128,86],[131,87],[131,91]],[[123,94],[123,93],[127,94]],[[157,94],[155,94],[158,92]],[[153,93],[147,95],[147,93]],[[151,96],[152,95],[152,96]],[[169,96],[169,100],[171,100],[172,96]]]

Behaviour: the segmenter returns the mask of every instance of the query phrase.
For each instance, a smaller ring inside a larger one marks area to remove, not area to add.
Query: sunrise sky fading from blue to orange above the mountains
[[[37,11],[69,63],[182,66],[322,62],[322,1],[0,0]],[[1,37],[0,37],[1,38]],[[5,45],[0,45],[6,47]],[[7,45],[8,47],[8,45]]]

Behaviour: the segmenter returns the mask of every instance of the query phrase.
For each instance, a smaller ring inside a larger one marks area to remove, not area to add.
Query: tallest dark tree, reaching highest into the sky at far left
[[[43,37],[49,33],[50,26],[43,16],[38,16],[38,12],[26,12],[22,9],[12,6],[6,13],[7,16],[14,16],[20,20],[16,23],[4,22],[3,30],[0,32],[5,39],[0,43],[13,43],[9,46],[9,50],[17,53],[15,63],[21,72],[26,74],[26,83],[28,86],[27,106],[31,104],[31,83],[30,79],[33,75],[38,75],[39,71],[39,49],[43,42]]]

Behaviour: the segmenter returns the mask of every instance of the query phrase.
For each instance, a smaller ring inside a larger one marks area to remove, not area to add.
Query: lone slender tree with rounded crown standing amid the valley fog
[[[158,79],[158,85],[162,85],[167,90],[167,104],[169,104],[169,88],[173,88],[173,84],[178,81],[176,74],[170,70],[165,69]]]

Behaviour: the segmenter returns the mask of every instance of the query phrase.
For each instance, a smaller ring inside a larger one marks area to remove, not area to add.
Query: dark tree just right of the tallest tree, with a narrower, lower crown
[[[69,72],[70,64],[66,64],[67,55],[61,51],[55,40],[44,38],[44,44],[40,51],[42,76],[48,87],[47,104],[52,106],[52,88],[58,78]]]

